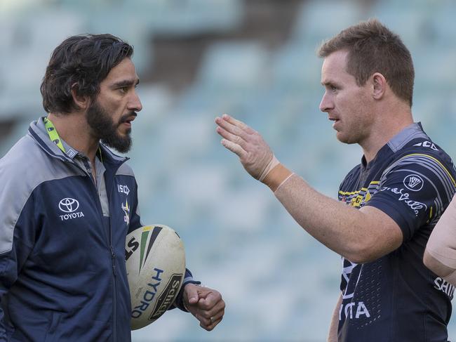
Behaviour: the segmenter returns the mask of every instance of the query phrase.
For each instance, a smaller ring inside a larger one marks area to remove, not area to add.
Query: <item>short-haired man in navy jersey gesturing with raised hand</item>
[[[321,46],[320,109],[337,139],[363,149],[339,201],[283,166],[259,133],[217,117],[222,145],[271,188],[304,230],[342,256],[341,295],[328,341],[447,341],[452,292],[424,267],[427,239],[456,190],[450,157],[414,123],[413,63],[377,20]]]

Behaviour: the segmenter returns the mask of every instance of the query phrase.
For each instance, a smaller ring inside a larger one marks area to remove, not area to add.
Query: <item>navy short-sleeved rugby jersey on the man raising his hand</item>
[[[455,194],[455,178],[452,160],[421,124],[405,128],[344,178],[339,200],[386,213],[401,228],[403,243],[370,263],[342,258],[339,341],[447,341],[455,288],[422,258]]]

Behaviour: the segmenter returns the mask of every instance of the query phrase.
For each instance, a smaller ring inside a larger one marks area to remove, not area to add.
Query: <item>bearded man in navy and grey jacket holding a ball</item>
[[[130,341],[125,240],[142,226],[138,186],[106,146],[128,152],[142,110],[132,54],[110,34],[63,41],[41,84],[48,116],[0,159],[1,341]],[[200,284],[187,270],[173,307],[212,330],[224,301]]]

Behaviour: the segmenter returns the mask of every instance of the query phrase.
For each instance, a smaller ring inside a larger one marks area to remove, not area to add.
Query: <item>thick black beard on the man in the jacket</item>
[[[123,115],[118,122],[114,123],[112,117],[107,110],[95,101],[86,112],[88,126],[92,129],[94,136],[99,138],[103,144],[114,148],[115,150],[126,153],[132,145],[131,129],[128,129],[125,136],[121,136],[117,129],[123,123],[128,121],[132,115],[136,116],[135,112],[130,112]]]

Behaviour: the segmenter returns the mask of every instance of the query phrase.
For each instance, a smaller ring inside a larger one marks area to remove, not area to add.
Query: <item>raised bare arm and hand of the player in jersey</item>
[[[401,228],[380,209],[358,210],[322,195],[274,162],[262,136],[242,121],[224,114],[215,122],[222,145],[237,154],[244,169],[268,185],[295,221],[328,248],[354,263],[366,263],[401,245]]]

